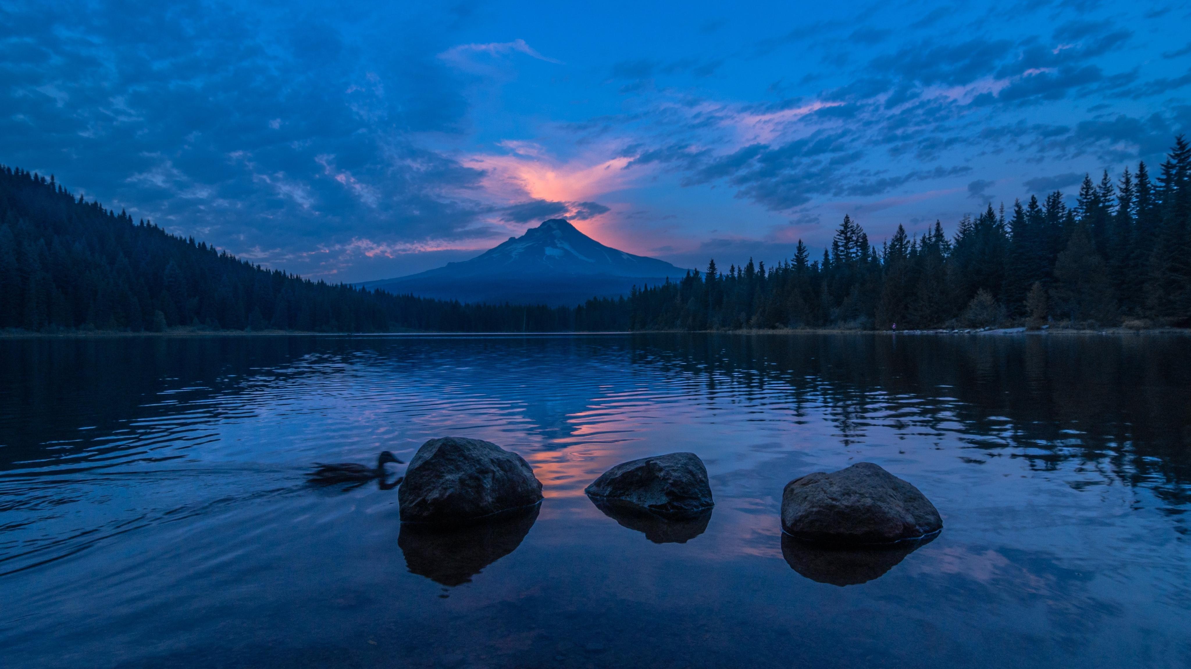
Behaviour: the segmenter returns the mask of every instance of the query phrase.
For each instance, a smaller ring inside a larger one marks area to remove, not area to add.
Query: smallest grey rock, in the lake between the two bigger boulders
[[[699,515],[715,506],[707,468],[694,454],[667,454],[617,464],[584,490],[592,501],[655,513]]]

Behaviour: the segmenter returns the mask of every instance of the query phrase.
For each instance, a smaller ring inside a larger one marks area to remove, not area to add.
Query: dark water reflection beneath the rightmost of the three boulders
[[[833,586],[867,583],[893,569],[905,556],[935,540],[939,532],[887,546],[831,548],[781,534],[781,555],[803,576]]]

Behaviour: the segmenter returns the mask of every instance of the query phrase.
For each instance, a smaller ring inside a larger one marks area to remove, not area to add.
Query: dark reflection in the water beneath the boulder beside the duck
[[[485,567],[517,550],[541,505],[482,525],[435,529],[403,524],[397,545],[411,574],[443,586],[469,583]]]

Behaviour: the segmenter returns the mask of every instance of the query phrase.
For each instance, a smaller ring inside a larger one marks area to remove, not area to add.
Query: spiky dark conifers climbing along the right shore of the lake
[[[1145,163],[1114,183],[1085,176],[1074,207],[1060,192],[1010,212],[965,217],[953,238],[903,226],[879,248],[852,220],[822,260],[799,240],[780,264],[634,290],[634,330],[844,326],[1191,325],[1191,148],[1179,136],[1156,182]]]

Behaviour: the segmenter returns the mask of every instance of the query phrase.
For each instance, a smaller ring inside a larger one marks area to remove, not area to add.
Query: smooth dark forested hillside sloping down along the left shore
[[[549,332],[601,330],[626,312],[624,299],[463,305],[310,281],[0,167],[0,329]]]

